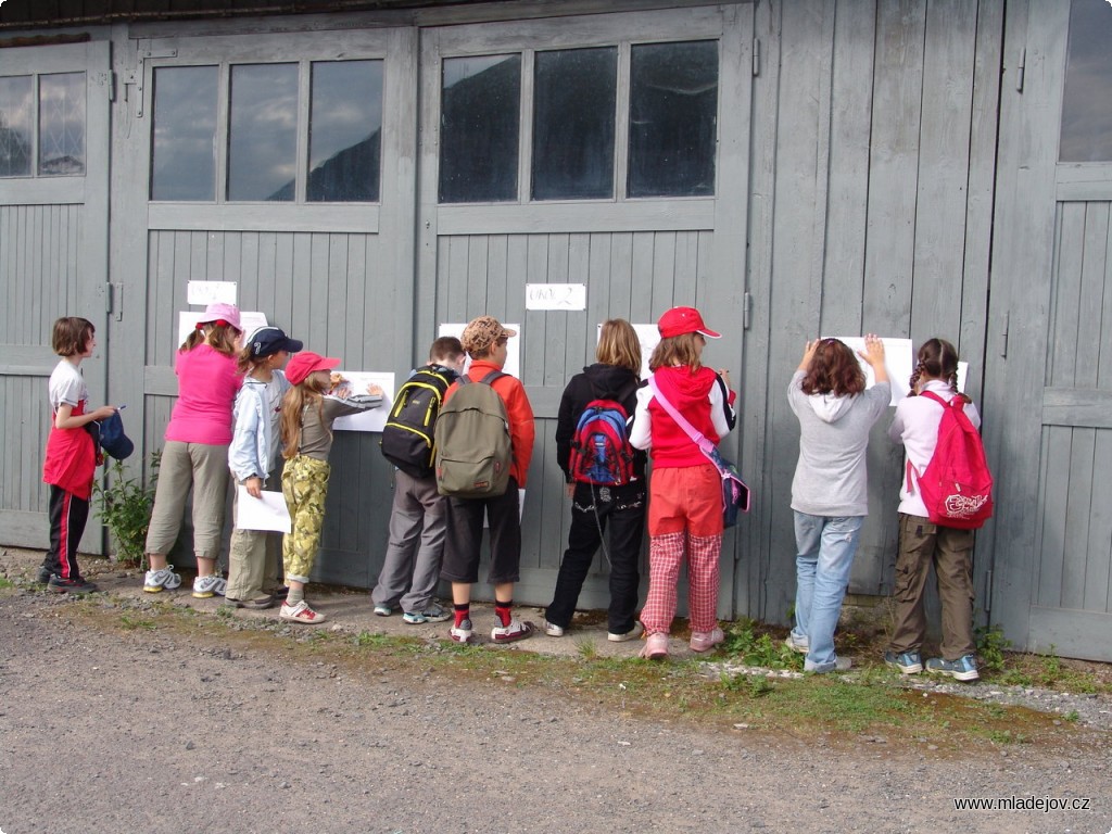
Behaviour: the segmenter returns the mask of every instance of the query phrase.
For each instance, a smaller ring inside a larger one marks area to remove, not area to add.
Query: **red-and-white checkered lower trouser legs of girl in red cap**
[[[686,546],[686,547],[685,547]],[[676,616],[676,583],[687,552],[687,610],[693,632],[709,632],[718,625],[718,555],[722,534],[691,536],[665,533],[648,543],[648,598],[641,610],[647,634],[667,634]]]

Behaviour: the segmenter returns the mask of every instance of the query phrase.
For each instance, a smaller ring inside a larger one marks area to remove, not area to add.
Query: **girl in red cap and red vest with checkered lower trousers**
[[[661,395],[707,438],[717,443],[733,428],[729,376],[702,364],[706,339],[721,338],[694,307],[674,307],[657,322],[661,342],[648,367]],[[728,391],[728,393],[727,393]],[[642,657],[668,655],[668,631],[676,613],[676,582],[687,554],[691,647],[706,652],[724,635],[718,628],[718,554],[722,550],[722,479],[664,407],[651,387],[637,391],[629,441],[652,449],[648,504],[648,598],[641,613],[648,639]]]

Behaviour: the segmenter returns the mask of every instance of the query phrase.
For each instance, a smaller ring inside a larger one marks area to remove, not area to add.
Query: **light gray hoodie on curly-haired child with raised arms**
[[[887,383],[846,397],[806,395],[797,370],[787,401],[800,418],[800,460],[792,480],[792,509],[812,516],[868,515],[865,448],[868,431],[892,398]]]

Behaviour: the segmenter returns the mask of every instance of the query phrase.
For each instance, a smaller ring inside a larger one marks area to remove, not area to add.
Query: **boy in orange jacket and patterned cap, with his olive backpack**
[[[506,345],[516,335],[493,316],[479,316],[464,328],[460,342],[471,366],[448,388],[436,425],[436,480],[448,496],[440,576],[451,583],[450,635],[457,643],[471,639],[471,585],[478,582],[484,514],[490,527],[487,582],[494,585],[498,617],[490,638],[510,643],[533,634],[532,623],[513,617],[522,562],[517,490],[525,487],[535,436],[525,386],[502,370]]]

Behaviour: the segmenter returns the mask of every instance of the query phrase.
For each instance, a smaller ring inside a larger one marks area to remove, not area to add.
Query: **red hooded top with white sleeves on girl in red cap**
[[[692,374],[687,366],[657,368],[653,374],[661,394],[667,397],[696,430],[717,444],[734,426],[733,401],[737,396],[729,391],[723,396],[724,385],[709,368]],[[653,389],[637,391],[637,411],[634,417],[629,443],[638,449],[653,450],[653,466],[657,468],[709,465],[706,456],[687,433],[656,401]]]

